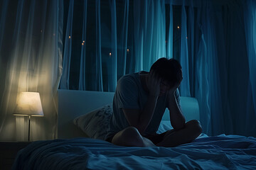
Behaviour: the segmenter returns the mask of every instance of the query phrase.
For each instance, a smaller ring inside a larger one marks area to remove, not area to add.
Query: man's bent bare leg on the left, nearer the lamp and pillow
[[[146,137],[142,137],[139,134],[137,128],[128,127],[120,132],[117,132],[112,139],[114,145],[126,146],[126,147],[153,147],[155,146],[151,140]]]

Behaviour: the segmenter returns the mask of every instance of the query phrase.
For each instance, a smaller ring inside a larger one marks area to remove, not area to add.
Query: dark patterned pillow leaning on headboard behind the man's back
[[[89,137],[104,140],[112,113],[112,104],[108,104],[85,115],[80,115],[73,120],[73,123]]]

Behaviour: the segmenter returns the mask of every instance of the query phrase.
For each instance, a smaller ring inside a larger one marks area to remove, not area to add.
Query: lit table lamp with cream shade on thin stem
[[[40,94],[38,92],[21,92],[17,98],[14,115],[28,116],[28,141],[30,141],[31,116],[43,116]]]

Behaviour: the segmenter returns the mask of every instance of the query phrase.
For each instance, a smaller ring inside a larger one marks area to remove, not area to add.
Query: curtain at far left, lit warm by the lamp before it
[[[0,140],[28,140],[28,117],[14,116],[21,91],[37,91],[43,117],[31,117],[31,140],[56,136],[62,72],[63,1],[0,1]]]

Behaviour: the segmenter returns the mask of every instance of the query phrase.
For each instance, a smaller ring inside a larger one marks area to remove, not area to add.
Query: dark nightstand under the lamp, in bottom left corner
[[[11,169],[18,151],[31,142],[0,142],[0,169]]]

